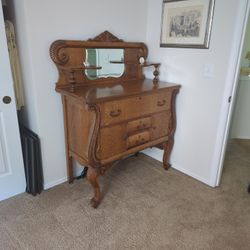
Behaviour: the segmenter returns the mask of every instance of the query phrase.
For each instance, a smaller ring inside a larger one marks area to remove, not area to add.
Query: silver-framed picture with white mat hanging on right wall
[[[161,47],[208,49],[215,0],[163,0]]]

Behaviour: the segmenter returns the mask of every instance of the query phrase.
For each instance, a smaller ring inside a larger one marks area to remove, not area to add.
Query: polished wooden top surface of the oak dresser
[[[158,81],[157,85],[153,80],[134,80],[121,83],[100,83],[93,85],[76,86],[74,92],[70,87],[57,88],[56,90],[63,95],[75,97],[83,100],[87,104],[94,104],[103,101],[111,101],[130,96],[162,92],[167,89],[179,89],[180,85]]]

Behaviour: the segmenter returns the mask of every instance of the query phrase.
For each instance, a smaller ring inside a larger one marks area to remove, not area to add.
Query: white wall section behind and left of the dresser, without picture
[[[58,73],[49,57],[57,39],[93,38],[104,30],[125,41],[146,40],[145,0],[12,0],[25,83],[28,124],[41,138],[45,187],[66,180]]]

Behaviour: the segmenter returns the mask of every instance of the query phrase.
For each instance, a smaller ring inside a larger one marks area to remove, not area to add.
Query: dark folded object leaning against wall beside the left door
[[[26,192],[35,196],[43,191],[40,139],[22,125],[20,125],[20,134],[27,183]]]

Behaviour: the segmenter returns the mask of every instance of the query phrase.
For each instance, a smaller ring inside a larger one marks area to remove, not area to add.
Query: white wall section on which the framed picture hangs
[[[177,131],[171,156],[173,167],[207,184],[214,185],[213,156],[220,112],[230,64],[233,37],[245,0],[215,1],[210,49],[160,48],[162,0],[149,0],[147,44],[150,60],[159,61],[161,80],[182,85],[177,98]],[[214,72],[204,76],[205,65]],[[147,150],[157,159],[158,150]]]

